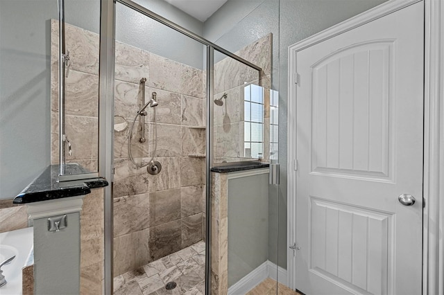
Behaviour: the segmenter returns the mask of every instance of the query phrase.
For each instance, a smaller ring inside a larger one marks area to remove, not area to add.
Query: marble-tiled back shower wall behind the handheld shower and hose
[[[116,43],[114,113],[133,125],[146,100],[146,143],[137,118],[131,153],[137,163],[153,155],[162,171],[149,175],[128,158],[130,128],[114,132],[114,276],[169,256],[203,239],[205,196],[205,74],[186,64]],[[154,114],[155,111],[155,114]],[[157,147],[155,149],[155,128]]]

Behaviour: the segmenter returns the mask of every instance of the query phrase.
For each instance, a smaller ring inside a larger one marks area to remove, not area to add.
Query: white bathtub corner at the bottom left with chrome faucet
[[[0,233],[0,263],[15,255],[9,265],[1,267],[8,283],[0,287],[0,295],[22,294],[22,267],[29,263],[28,256],[33,249],[33,240],[32,227]]]

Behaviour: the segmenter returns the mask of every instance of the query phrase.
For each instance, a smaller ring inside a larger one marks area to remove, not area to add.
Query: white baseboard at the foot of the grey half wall
[[[276,280],[276,276],[278,276],[278,281],[282,285],[287,286],[287,269],[283,269],[282,267],[277,267],[277,265],[273,262],[266,260],[266,262],[253,269],[250,274],[241,278],[237,283],[228,288],[228,295],[242,295],[246,294],[246,292],[253,289],[259,283],[261,283],[266,278],[273,278]]]

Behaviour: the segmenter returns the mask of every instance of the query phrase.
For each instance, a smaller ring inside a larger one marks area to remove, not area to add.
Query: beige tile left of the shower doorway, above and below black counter
[[[99,35],[66,24],[71,65],[65,78],[65,129],[73,154],[67,163],[96,171],[98,159]],[[58,163],[58,21],[51,20],[51,164]],[[101,294],[103,189],[83,199],[80,212],[80,294]]]

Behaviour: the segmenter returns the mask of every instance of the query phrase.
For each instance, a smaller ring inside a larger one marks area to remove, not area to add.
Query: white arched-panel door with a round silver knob
[[[423,29],[419,2],[296,54],[305,294],[421,294]]]

